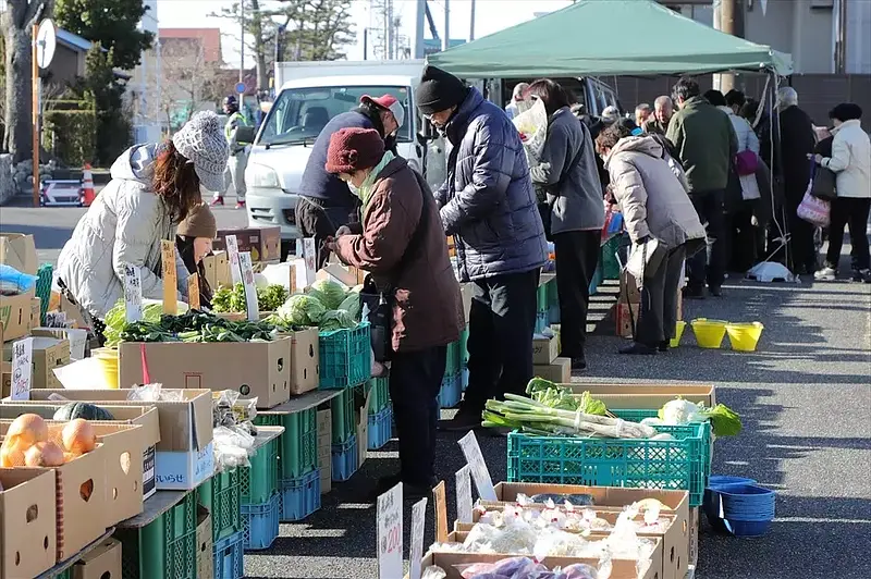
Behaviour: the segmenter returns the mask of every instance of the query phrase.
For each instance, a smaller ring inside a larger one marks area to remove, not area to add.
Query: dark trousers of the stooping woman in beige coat
[[[641,288],[641,311],[635,341],[655,347],[674,337],[677,324],[677,286],[686,246],[668,249],[660,267]]]

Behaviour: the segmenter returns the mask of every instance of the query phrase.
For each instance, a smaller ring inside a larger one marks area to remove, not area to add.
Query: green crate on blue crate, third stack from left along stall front
[[[257,426],[281,426],[282,415],[259,415]],[[279,535],[279,442],[273,439],[240,469],[245,551],[269,549]]]

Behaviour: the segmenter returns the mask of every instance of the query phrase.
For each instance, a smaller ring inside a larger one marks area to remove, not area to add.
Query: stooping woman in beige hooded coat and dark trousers
[[[657,138],[634,137],[614,124],[597,137],[596,145],[633,243],[653,237],[665,247],[660,264],[645,272],[635,343],[621,354],[665,352],[676,327],[684,259],[703,247],[704,227],[687,195],[683,169]]]

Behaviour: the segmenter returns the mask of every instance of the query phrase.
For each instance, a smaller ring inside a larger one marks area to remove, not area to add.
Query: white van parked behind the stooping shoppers
[[[444,149],[441,139],[419,136],[422,119],[414,103],[422,66],[422,60],[278,63],[275,86],[281,89],[257,133],[245,170],[248,224],[280,225],[283,241],[299,236],[294,211],[311,145],[333,116],[357,107],[363,95],[389,94],[403,103],[398,153],[431,186],[440,186]]]

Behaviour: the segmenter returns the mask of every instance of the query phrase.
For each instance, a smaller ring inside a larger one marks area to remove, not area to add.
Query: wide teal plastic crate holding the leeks
[[[702,424],[657,427],[673,441],[508,434],[510,482],[689,491],[701,505],[707,483]]]

